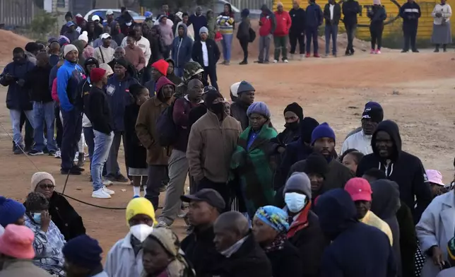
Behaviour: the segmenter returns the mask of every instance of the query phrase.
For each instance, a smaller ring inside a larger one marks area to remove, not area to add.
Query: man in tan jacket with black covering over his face
[[[229,206],[230,190],[226,182],[242,126],[225,113],[223,95],[217,90],[206,93],[205,103],[207,113],[191,126],[189,133],[189,173],[194,177],[198,191],[215,189]]]

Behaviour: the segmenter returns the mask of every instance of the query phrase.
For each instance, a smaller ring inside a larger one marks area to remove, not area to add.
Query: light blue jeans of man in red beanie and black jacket
[[[93,191],[101,189],[102,184],[102,167],[105,165],[107,155],[114,140],[114,132],[105,134],[100,131],[93,130],[95,135],[95,148],[93,149],[93,160],[90,165],[90,174],[93,180]]]

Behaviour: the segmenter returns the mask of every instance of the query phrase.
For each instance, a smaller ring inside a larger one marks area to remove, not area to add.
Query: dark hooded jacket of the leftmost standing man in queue
[[[30,95],[28,89],[20,86],[18,81],[25,80],[25,76],[32,71],[35,65],[24,59],[23,61],[13,61],[6,65],[4,71],[0,76],[0,83],[2,86],[8,86],[8,93],[6,94],[6,107],[9,110],[32,110],[32,102],[30,102]],[[13,76],[13,79],[7,80],[6,74]]]

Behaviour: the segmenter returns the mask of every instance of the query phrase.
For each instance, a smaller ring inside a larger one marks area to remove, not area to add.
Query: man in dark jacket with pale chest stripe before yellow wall
[[[417,36],[417,27],[419,25],[420,18],[420,6],[415,3],[414,0],[408,0],[400,8],[400,16],[403,18],[403,35],[404,35],[404,47],[402,53],[409,51],[409,41],[410,47],[413,52],[419,52],[417,47],[415,47],[415,37]]]

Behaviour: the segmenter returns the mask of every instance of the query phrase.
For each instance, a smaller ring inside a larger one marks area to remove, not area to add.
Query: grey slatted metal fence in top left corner
[[[0,0],[0,23],[6,28],[24,27],[40,10],[33,0]]]

